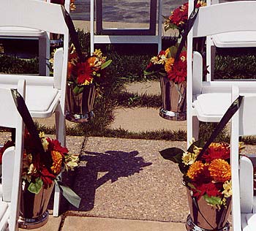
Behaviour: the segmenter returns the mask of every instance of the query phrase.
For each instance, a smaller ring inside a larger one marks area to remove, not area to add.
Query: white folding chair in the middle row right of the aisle
[[[189,12],[193,1],[189,0]],[[192,50],[194,37],[234,31],[256,31],[256,1],[233,1],[200,7],[187,40],[187,141],[197,139],[199,121],[219,122],[231,103],[231,87],[256,92],[253,80],[203,81],[203,58]],[[238,15],[244,12],[243,17]]]

